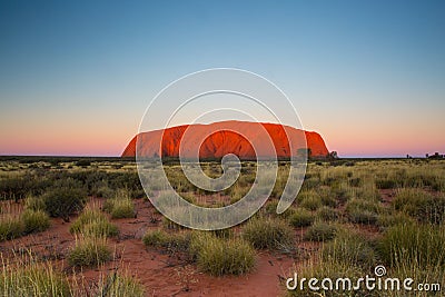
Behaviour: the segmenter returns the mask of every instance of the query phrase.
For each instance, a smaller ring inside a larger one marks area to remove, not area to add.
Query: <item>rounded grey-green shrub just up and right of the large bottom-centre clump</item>
[[[294,245],[294,230],[283,220],[255,218],[243,227],[243,237],[255,248],[283,249]]]

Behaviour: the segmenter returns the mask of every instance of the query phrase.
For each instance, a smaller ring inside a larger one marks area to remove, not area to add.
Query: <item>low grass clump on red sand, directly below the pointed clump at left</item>
[[[68,264],[78,267],[98,266],[111,259],[106,237],[80,237],[68,254]]]

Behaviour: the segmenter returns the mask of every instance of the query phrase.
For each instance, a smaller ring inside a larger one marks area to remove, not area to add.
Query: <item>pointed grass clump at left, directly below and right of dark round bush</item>
[[[70,232],[82,234],[83,236],[108,237],[117,236],[119,229],[99,209],[87,208],[71,225]]]

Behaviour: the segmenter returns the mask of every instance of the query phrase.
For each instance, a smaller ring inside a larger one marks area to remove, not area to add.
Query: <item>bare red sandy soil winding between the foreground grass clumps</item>
[[[101,201],[95,199],[93,204],[100,205]],[[244,276],[211,277],[199,273],[195,265],[189,265],[188,277],[184,277],[186,274],[182,273],[182,277],[179,278],[178,271],[181,271],[185,265],[185,261],[180,260],[180,255],[172,257],[162,254],[161,250],[147,249],[141,241],[147,229],[158,228],[159,221],[150,222],[150,219],[156,216],[160,219],[159,215],[155,215],[152,206],[147,200],[137,199],[135,204],[138,209],[137,218],[112,220],[120,230],[117,238],[109,239],[115,246],[116,259],[100,269],[85,268],[81,273],[85,281],[97,281],[100,270],[111,274],[113,268],[119,267],[118,269],[127,269],[140,280],[147,296],[284,295],[280,278],[283,280],[290,275],[295,261],[285,255],[273,255],[268,251],[259,251],[255,270]],[[17,253],[24,253],[31,248],[37,257],[52,260],[65,271],[71,273],[66,257],[76,239],[69,232],[69,226],[70,222],[52,219],[51,227],[47,231],[0,242],[0,253],[11,263],[18,256]],[[186,291],[187,284],[189,289]]]

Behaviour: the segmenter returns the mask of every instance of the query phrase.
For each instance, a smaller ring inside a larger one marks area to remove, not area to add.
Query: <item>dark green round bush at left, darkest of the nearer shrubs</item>
[[[72,179],[57,182],[43,196],[47,212],[69,221],[69,217],[83,209],[87,201],[86,190]]]

